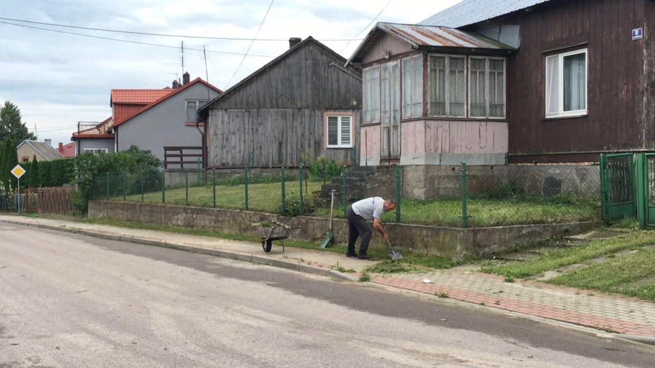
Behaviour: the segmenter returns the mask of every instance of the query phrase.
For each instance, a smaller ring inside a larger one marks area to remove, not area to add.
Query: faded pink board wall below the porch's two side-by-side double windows
[[[508,123],[488,120],[414,120],[401,126],[405,153],[507,153]]]

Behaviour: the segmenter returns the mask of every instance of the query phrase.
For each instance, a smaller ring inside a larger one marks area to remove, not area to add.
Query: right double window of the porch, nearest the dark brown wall
[[[469,116],[505,117],[505,59],[471,57],[469,62]]]

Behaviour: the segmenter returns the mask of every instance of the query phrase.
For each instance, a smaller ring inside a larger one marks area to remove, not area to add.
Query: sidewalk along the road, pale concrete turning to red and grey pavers
[[[264,253],[261,244],[225,240],[210,236],[178,234],[157,230],[126,229],[77,221],[0,215],[0,222],[88,234],[151,246],[194,251],[230,259],[239,259],[276,267],[290,268],[339,280],[356,281],[373,261],[347,258],[341,253],[299,249],[274,245]],[[339,272],[337,265],[356,273]],[[424,280],[430,280],[424,282]],[[655,344],[655,304],[634,298],[578,289],[557,287],[539,282],[518,280],[505,282],[500,276],[467,268],[436,270],[413,274],[371,275],[371,283],[448,297],[468,303],[484,304],[560,322],[591,327],[620,337]]]

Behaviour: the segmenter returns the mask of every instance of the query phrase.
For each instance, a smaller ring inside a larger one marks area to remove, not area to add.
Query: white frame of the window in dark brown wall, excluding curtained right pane
[[[577,54],[584,54],[584,68],[585,68],[584,109],[564,111],[564,58],[567,56],[572,56]],[[557,81],[559,83],[559,88],[558,88],[559,101],[557,103],[559,108],[557,109],[556,113],[548,113],[548,101],[550,101],[550,98],[548,97],[549,96],[548,81],[550,80],[550,74],[548,73],[549,58],[557,58],[557,66],[558,66],[557,70],[559,71],[559,78]],[[577,116],[587,115],[589,111],[589,50],[588,48],[581,48],[580,50],[563,52],[561,54],[546,56],[546,58],[544,59],[544,67],[546,69],[546,79],[544,79],[544,114],[546,116],[546,119],[559,118],[559,117],[577,117]]]

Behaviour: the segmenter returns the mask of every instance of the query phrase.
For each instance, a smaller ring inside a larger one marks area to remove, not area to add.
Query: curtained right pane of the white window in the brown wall
[[[564,57],[564,111],[584,110],[586,101],[587,68],[585,54]]]

